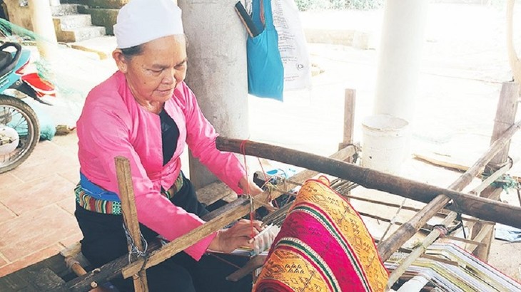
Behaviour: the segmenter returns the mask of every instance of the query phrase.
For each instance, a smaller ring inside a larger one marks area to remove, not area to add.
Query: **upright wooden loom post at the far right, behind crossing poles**
[[[499,137],[515,122],[515,115],[517,113],[517,98],[519,97],[519,84],[515,82],[505,82],[502,85],[500,100],[497,104],[497,111],[495,115],[494,130],[490,139],[490,144],[494,143]],[[502,148],[495,157],[490,160],[487,165],[488,172],[495,172],[498,168],[505,165],[508,160],[508,152],[510,150],[510,140]],[[485,189],[480,193],[480,197],[490,198],[494,192],[493,187]],[[475,238],[477,234],[480,234],[482,224],[476,223],[472,228],[472,238]],[[485,236],[482,242],[485,246],[477,246],[474,251],[474,255],[482,261],[488,261],[488,255],[490,253],[490,244],[492,243],[493,229],[491,229]]]

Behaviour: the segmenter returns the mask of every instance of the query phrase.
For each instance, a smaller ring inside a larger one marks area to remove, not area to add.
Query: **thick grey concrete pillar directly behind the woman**
[[[246,139],[246,30],[233,9],[236,3],[237,0],[178,0],[188,38],[186,83],[218,133]],[[196,188],[217,180],[193,157],[190,178]]]

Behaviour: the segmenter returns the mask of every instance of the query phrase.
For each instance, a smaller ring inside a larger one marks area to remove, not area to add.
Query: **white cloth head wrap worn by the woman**
[[[176,34],[183,34],[183,21],[173,0],[131,0],[119,10],[114,25],[118,48]]]

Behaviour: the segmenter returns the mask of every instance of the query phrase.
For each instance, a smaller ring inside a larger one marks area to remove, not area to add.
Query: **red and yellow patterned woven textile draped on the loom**
[[[298,192],[253,291],[384,291],[375,242],[325,177]]]

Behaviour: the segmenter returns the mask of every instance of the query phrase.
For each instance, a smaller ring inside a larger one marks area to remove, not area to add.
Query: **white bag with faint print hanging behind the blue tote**
[[[294,0],[271,0],[278,49],[284,65],[284,90],[311,87],[308,43]]]

